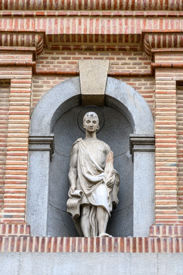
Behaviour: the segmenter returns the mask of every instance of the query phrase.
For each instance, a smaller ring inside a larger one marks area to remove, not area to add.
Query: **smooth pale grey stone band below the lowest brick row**
[[[180,253],[0,253],[1,275],[177,275]]]

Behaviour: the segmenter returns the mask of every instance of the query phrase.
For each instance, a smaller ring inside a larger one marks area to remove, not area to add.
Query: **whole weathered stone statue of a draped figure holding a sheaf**
[[[67,212],[81,237],[110,237],[106,228],[119,202],[119,174],[113,167],[109,145],[96,138],[96,113],[84,116],[83,128],[86,138],[77,139],[70,153]]]

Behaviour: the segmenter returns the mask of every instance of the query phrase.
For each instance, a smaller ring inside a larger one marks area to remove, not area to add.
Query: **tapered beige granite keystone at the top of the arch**
[[[109,60],[79,60],[82,105],[104,106]]]

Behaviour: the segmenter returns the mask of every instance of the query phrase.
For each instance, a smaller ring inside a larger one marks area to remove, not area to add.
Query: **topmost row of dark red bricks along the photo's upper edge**
[[[1,0],[0,1],[1,10],[157,10],[157,11],[181,11],[182,2],[171,0],[139,0],[139,1],[129,1],[129,0],[108,0],[108,1],[96,1],[96,0]]]

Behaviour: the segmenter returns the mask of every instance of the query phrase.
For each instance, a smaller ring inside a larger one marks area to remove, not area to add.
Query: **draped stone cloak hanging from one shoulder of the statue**
[[[114,170],[116,180],[110,192],[110,197],[108,197],[108,188],[103,182],[104,170],[91,156],[84,141],[78,139],[76,142],[78,142],[76,190],[73,198],[69,198],[67,201],[67,212],[72,215],[75,227],[82,236],[80,206],[91,205],[91,237],[95,237],[98,234],[98,223],[96,220],[97,206],[102,206],[109,216],[111,216],[112,208],[115,208],[119,202],[117,197],[119,192],[119,174]],[[76,142],[74,142],[72,148]]]

